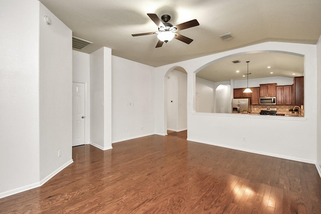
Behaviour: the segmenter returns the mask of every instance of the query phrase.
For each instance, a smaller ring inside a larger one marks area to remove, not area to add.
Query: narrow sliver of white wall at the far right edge
[[[316,44],[317,62],[317,144],[316,144],[316,166],[321,176],[321,36]]]

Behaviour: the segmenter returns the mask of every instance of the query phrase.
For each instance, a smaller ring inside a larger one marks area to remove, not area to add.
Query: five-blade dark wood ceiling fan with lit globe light
[[[158,42],[155,48],[162,47],[164,42],[167,43],[168,41],[171,41],[173,38],[180,40],[186,44],[190,44],[191,42],[193,42],[192,39],[185,37],[177,32],[200,25],[197,20],[191,20],[191,21],[173,26],[171,23],[168,23],[168,21],[170,21],[171,19],[170,15],[163,15],[162,16],[163,22],[161,19],[157,17],[156,14],[147,14],[147,16],[157,25],[158,32],[132,34],[131,36],[137,37],[137,36],[156,34],[158,38]]]

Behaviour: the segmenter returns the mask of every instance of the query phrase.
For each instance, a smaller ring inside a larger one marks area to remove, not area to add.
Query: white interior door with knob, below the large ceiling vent
[[[72,146],[85,144],[85,84],[72,83]]]

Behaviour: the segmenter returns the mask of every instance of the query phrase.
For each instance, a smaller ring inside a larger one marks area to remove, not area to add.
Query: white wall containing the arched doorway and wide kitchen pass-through
[[[194,112],[195,72],[214,60],[251,51],[281,51],[304,56],[304,118],[207,114]],[[164,90],[164,76],[173,67],[183,67],[188,73],[188,135],[189,140],[220,145],[245,151],[315,163],[316,160],[316,46],[267,42],[200,57],[155,68],[155,94]],[[164,95],[156,100],[156,133],[164,133]],[[247,127],[242,129],[239,127]],[[273,140],[262,138],[272,128]],[[231,131],[233,130],[233,131]],[[231,134],[232,133],[232,134]],[[245,141],[242,138],[245,137]]]

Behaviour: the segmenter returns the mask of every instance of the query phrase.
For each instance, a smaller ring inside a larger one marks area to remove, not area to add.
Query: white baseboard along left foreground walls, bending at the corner
[[[1,192],[0,193],[0,198],[4,198],[4,197],[8,197],[10,195],[14,195],[20,192],[24,192],[33,188],[37,188],[39,186],[42,186],[44,183],[46,183],[50,178],[52,178],[53,176],[55,176],[56,174],[58,174],[61,170],[63,170],[64,168],[66,168],[68,165],[70,165],[71,163],[73,163],[74,161],[71,159],[69,160],[67,163],[65,163],[64,165],[62,165],[61,167],[59,167],[58,169],[56,169],[54,172],[50,173],[48,176],[46,176],[44,179],[42,179],[39,182],[36,183],[32,183],[26,186],[22,186],[16,189],[12,189],[9,191],[5,191],[5,192]]]

